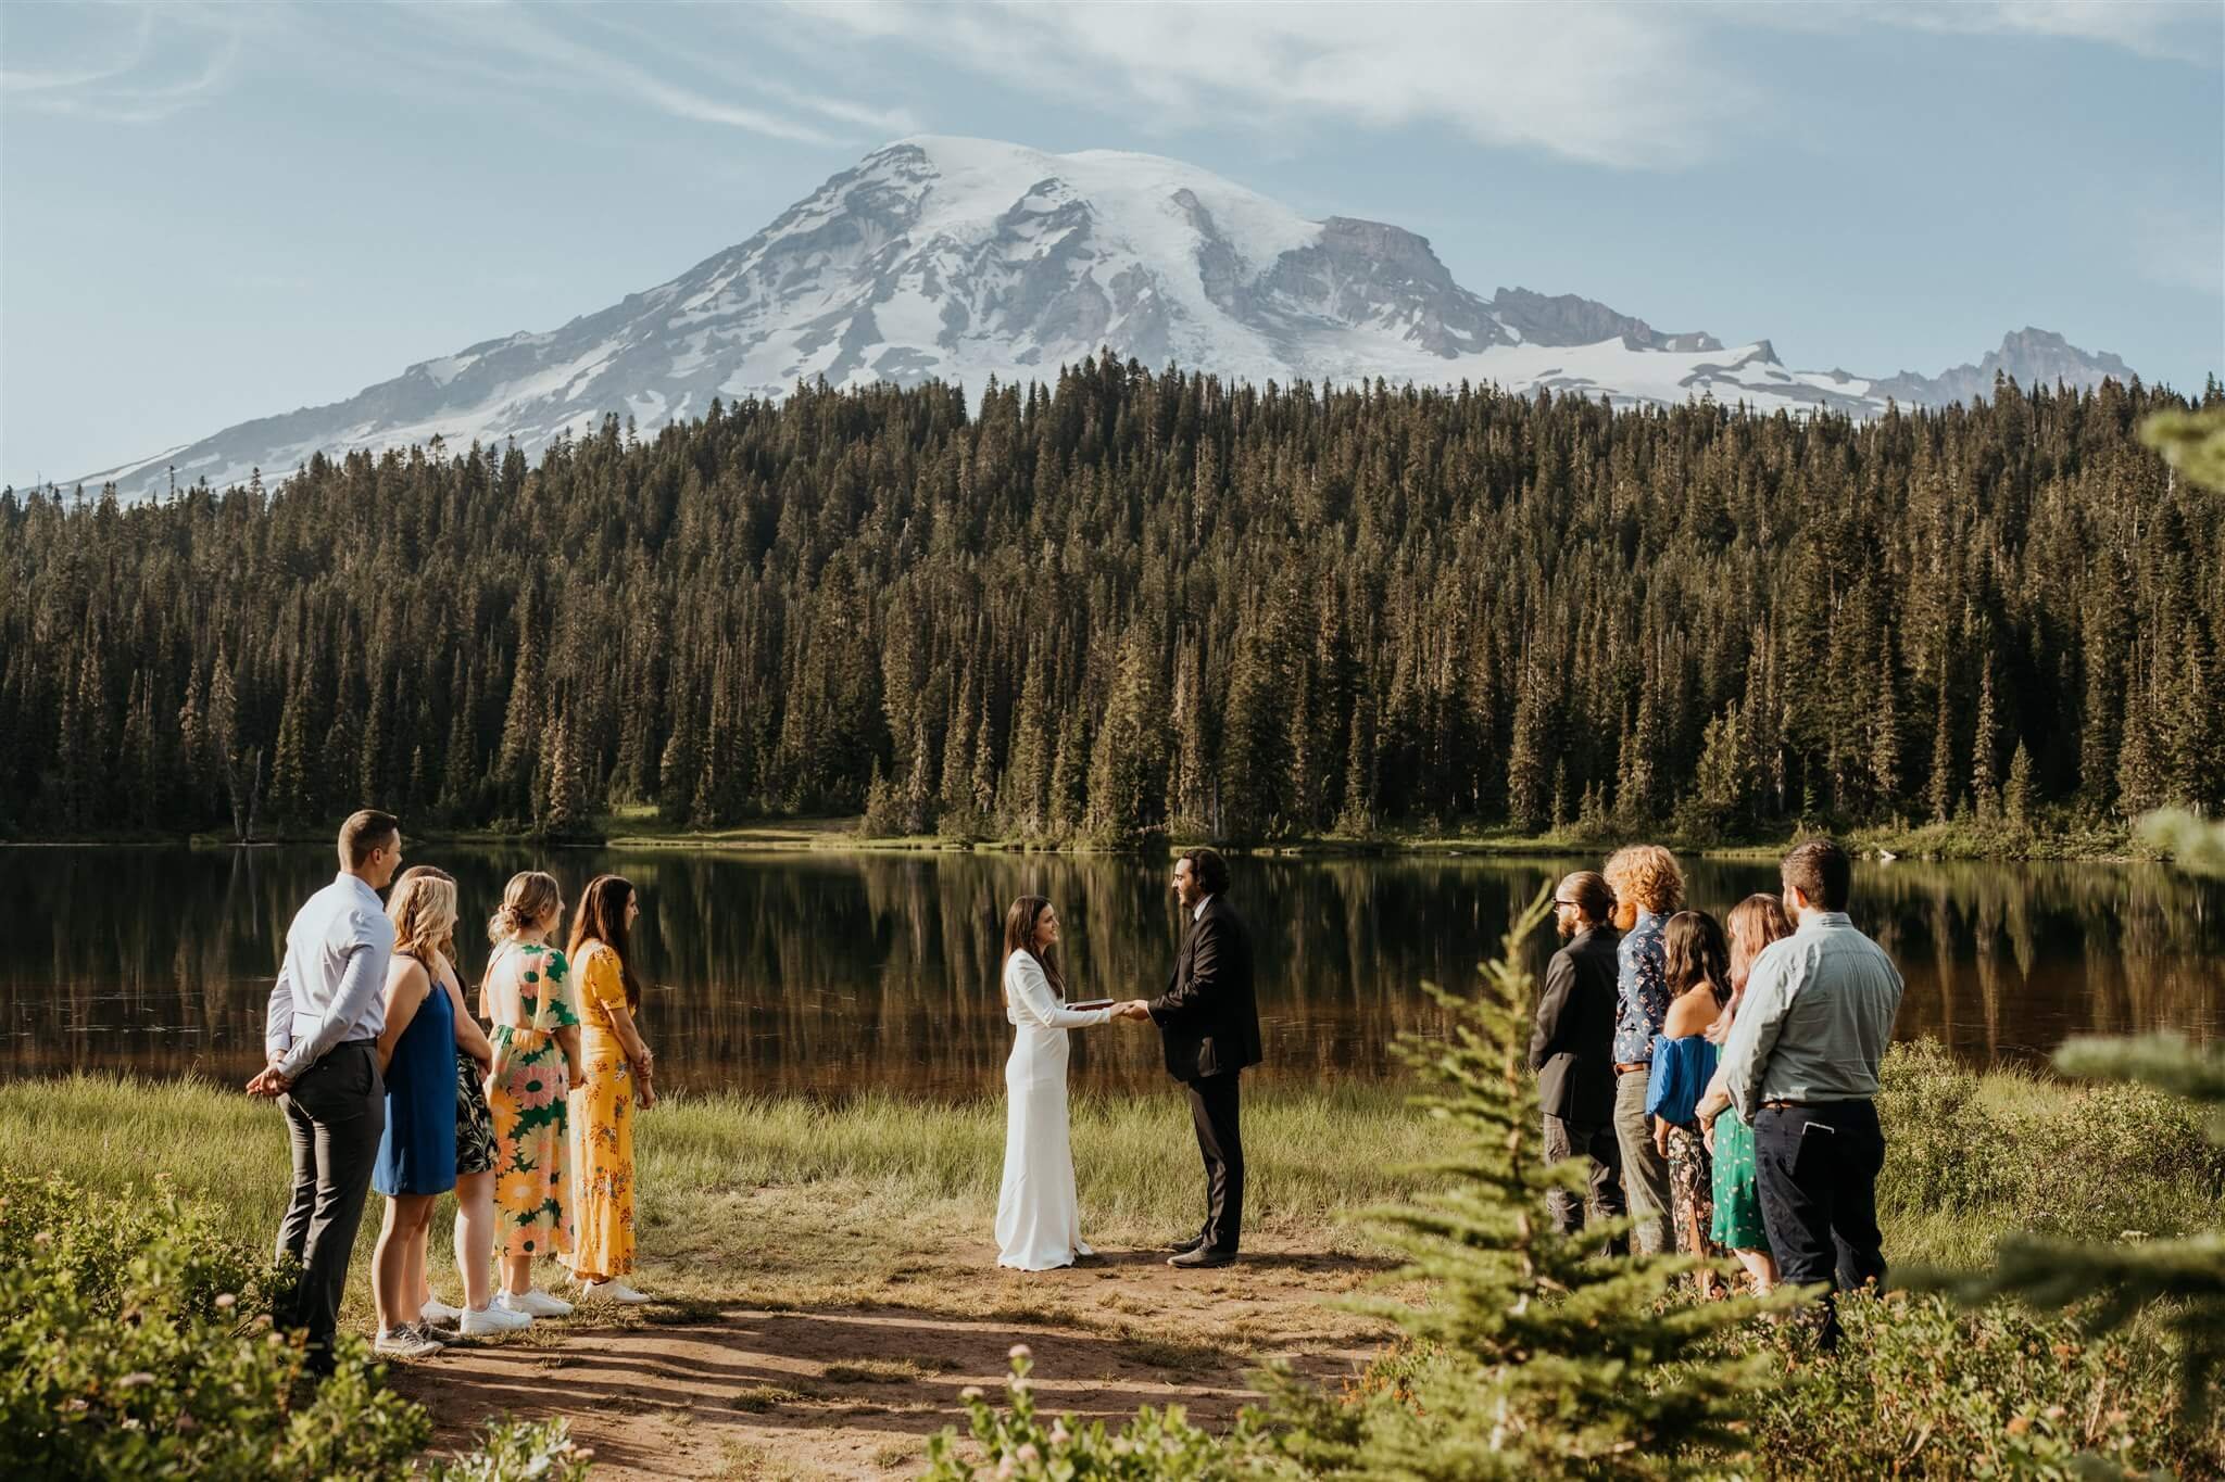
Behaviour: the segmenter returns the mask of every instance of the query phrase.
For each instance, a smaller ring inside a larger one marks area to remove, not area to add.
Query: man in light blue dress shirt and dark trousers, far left
[[[403,860],[400,820],[365,809],[340,824],[340,873],[294,915],[271,987],[263,1047],[269,1064],[247,1082],[274,1095],[294,1144],[294,1200],[278,1224],[278,1255],[303,1264],[294,1306],[274,1318],[309,1331],[309,1369],[332,1373],[332,1340],[387,1124],[378,1078],[394,922],[378,891]]]

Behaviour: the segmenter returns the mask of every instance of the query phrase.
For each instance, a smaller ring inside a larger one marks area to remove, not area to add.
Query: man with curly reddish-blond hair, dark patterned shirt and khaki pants
[[[1662,927],[1684,904],[1684,871],[1660,844],[1631,844],[1606,860],[1615,893],[1615,1144],[1622,1151],[1622,1195],[1635,1224],[1638,1249],[1673,1251],[1669,1231],[1669,1160],[1646,1124],[1646,1080],[1653,1040],[1669,1018],[1669,973]]]

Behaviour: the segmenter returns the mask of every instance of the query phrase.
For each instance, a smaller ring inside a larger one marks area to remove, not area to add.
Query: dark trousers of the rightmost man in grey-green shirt
[[[1753,1169],[1762,1193],[1769,1251],[1789,1286],[1836,1282],[1838,1291],[1885,1284],[1878,1233],[1878,1171],[1885,1129],[1869,1102],[1760,1107],[1753,1115]],[[1822,1300],[1818,1346],[1838,1349],[1838,1306]]]

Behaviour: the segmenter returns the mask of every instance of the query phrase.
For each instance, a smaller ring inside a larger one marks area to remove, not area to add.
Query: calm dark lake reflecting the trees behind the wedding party
[[[1003,909],[1059,907],[1075,998],[1166,987],[1179,940],[1159,860],[997,853],[712,853],[414,847],[463,884],[476,980],[503,880],[550,869],[576,900],[599,871],[641,891],[645,1031],[676,1089],[1001,1093]],[[1259,962],[1264,1075],[1400,1075],[1402,1031],[1437,1033],[1424,980],[1475,984],[1542,882],[1595,860],[1233,860]],[[0,1075],[129,1069],[245,1080],[287,920],[329,849],[0,849]],[[1689,862],[1722,913],[1773,864]],[[2160,867],[1869,864],[1856,922],[1900,962],[1898,1035],[1971,1062],[2031,1060],[2071,1033],[2185,1029],[2225,1011],[2225,884]],[[1537,967],[1551,933],[1531,944]],[[1155,1084],[1148,1027],[1075,1035],[1075,1082]]]

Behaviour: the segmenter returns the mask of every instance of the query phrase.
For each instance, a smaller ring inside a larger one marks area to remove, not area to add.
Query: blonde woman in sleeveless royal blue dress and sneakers
[[[387,918],[394,962],[387,1027],[378,1033],[387,1129],[372,1169],[372,1189],[387,1195],[372,1264],[376,1349],[389,1358],[425,1358],[441,1351],[441,1338],[421,1318],[425,1235],[434,1202],[456,1186],[456,1013],[429,964],[456,929],[456,882],[434,875],[400,882]]]

